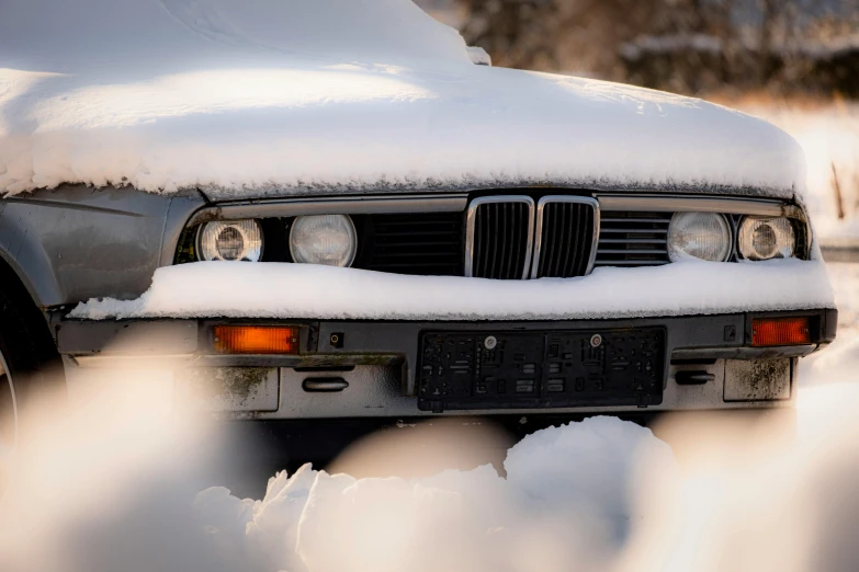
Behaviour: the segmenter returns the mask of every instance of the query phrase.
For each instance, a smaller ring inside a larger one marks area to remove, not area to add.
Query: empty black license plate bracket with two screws
[[[662,403],[665,329],[420,334],[418,409]]]

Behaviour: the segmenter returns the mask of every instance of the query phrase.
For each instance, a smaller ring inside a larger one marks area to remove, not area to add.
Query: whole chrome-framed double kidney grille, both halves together
[[[599,203],[590,197],[488,196],[468,206],[465,275],[524,279],[584,276],[594,266]]]

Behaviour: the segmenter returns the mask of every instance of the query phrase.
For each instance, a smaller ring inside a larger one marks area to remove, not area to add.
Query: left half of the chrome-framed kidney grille
[[[523,279],[531,266],[534,201],[530,196],[485,196],[468,206],[465,275]]]

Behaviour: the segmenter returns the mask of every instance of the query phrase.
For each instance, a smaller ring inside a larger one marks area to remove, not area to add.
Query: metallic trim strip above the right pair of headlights
[[[761,215],[799,218],[793,205],[778,199],[713,197],[713,196],[664,196],[664,195],[596,195],[602,210],[649,210],[652,213],[721,213],[723,215]]]

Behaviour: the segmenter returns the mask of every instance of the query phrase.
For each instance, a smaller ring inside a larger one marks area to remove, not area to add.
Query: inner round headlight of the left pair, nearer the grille
[[[349,266],[357,250],[355,226],[346,215],[297,217],[290,229],[290,253],[295,262]]]

